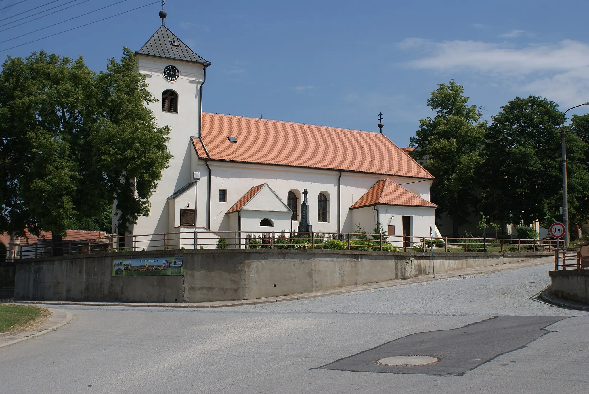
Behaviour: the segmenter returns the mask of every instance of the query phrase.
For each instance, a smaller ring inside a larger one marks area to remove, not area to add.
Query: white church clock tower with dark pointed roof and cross
[[[170,227],[174,226],[168,220],[167,197],[191,183],[191,171],[196,171],[191,137],[200,136],[202,90],[207,67],[211,65],[164,26],[166,11],[160,11],[160,18],[161,27],[135,55],[138,72],[146,77],[147,90],[158,100],[148,107],[158,126],[167,125],[171,129],[168,150],[173,157],[150,198],[150,216],[138,219],[134,234],[173,231]]]

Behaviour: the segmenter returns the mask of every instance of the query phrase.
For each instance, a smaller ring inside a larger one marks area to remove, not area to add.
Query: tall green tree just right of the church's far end
[[[477,206],[475,170],[482,163],[479,155],[487,122],[479,122],[480,112],[468,105],[464,88],[454,80],[439,84],[428,100],[428,107],[436,111],[434,118],[420,120],[416,146],[411,155],[422,163],[434,177],[432,201],[438,204],[436,214],[452,219],[452,233],[458,237],[459,226],[469,223]]]

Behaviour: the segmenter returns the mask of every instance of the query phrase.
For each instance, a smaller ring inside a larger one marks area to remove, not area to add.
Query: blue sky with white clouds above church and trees
[[[126,0],[15,38],[121,0],[55,0],[29,11],[49,1],[0,0],[0,41],[9,40],[0,51],[152,2]],[[50,8],[58,12],[8,24]],[[151,37],[160,9],[145,6],[0,57],[44,49],[81,55],[99,71],[123,46],[137,50]],[[209,112],[378,131],[382,111],[383,132],[406,146],[419,119],[432,115],[429,93],[452,78],[488,120],[516,95],[561,108],[589,101],[588,2],[167,0],[166,11],[166,26],[213,63],[203,94]]]

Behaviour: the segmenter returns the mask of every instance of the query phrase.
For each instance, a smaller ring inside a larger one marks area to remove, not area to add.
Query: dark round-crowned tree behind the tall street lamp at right
[[[481,195],[495,219],[525,224],[540,220],[548,226],[562,206],[562,112],[542,97],[516,97],[493,117],[484,145]],[[571,217],[586,215],[589,189],[587,145],[567,136]],[[586,216],[585,216],[586,217]]]

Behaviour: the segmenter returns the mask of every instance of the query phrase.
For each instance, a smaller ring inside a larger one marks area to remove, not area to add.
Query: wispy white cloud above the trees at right
[[[584,42],[567,39],[514,48],[505,43],[409,38],[399,48],[422,53],[406,67],[454,75],[471,72],[491,77],[518,94],[542,95],[561,104],[589,100],[589,44]]]

